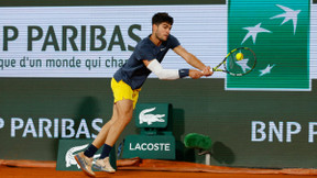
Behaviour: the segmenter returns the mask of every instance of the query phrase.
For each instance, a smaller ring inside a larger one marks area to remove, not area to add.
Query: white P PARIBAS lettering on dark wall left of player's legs
[[[95,138],[102,119],[0,118],[0,133],[11,138]]]

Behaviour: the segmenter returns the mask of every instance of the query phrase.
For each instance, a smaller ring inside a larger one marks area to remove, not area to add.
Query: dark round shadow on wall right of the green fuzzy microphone
[[[234,163],[234,153],[221,142],[215,142],[211,148],[212,157],[220,164],[231,165]]]

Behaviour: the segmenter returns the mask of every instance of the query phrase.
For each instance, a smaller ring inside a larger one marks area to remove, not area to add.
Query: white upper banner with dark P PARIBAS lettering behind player
[[[174,18],[172,34],[200,60],[212,66],[211,58],[226,54],[225,4],[1,8],[0,77],[110,78],[162,11]],[[173,52],[163,66],[189,67]]]

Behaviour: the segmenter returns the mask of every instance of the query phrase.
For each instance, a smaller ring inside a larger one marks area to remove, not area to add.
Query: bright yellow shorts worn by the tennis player
[[[128,99],[133,101],[133,109],[135,108],[141,88],[132,90],[132,88],[124,81],[120,80],[119,82],[117,82],[116,79],[112,78],[111,89],[114,97],[114,103]]]

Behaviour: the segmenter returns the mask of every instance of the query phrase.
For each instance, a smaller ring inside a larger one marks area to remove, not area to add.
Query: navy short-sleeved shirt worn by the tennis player
[[[168,49],[173,49],[178,45],[178,40],[173,35],[170,35],[167,41],[163,42],[160,46],[156,46],[150,40],[150,36],[143,38],[138,43],[128,62],[116,71],[113,78],[117,81],[123,80],[133,90],[141,88],[151,74],[151,70],[146,68],[143,60],[157,59],[161,63]]]

